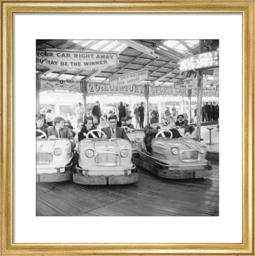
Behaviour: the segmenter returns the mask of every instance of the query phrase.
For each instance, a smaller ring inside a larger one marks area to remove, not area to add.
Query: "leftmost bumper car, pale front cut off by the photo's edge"
[[[58,182],[72,179],[73,153],[66,138],[44,139],[37,137],[36,180]]]

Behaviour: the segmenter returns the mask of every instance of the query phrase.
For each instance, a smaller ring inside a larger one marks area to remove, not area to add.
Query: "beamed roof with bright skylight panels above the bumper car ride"
[[[60,80],[82,80],[108,82],[114,76],[124,75],[143,68],[148,68],[149,77],[146,81],[153,85],[172,85],[188,77],[196,76],[193,71],[182,72],[177,62],[183,57],[198,54],[199,40],[67,40],[43,39],[37,40],[37,50],[44,49],[82,49],[102,52],[118,52],[119,64],[116,68],[101,70],[55,70],[37,67],[37,77]],[[216,51],[219,40],[205,40],[204,52]],[[213,70],[205,73],[213,76]]]

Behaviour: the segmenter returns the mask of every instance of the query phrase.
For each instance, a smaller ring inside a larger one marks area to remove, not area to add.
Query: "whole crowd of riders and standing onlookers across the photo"
[[[204,119],[206,121],[217,120],[219,117],[219,106],[218,104],[213,104],[206,102],[205,105],[202,106],[202,121]],[[37,115],[36,118],[36,129],[37,129],[37,137],[39,137],[40,131],[43,133],[44,138],[67,138],[70,140],[72,144],[72,148],[75,147],[75,135],[78,135],[78,141],[81,141],[83,138],[124,138],[129,139],[126,135],[126,132],[133,132],[137,130],[138,125],[140,129],[145,131],[145,143],[147,146],[148,152],[150,152],[150,142],[153,137],[160,130],[164,130],[166,133],[166,137],[168,136],[167,131],[171,130],[173,138],[182,137],[178,131],[179,128],[183,128],[184,133],[192,133],[195,129],[193,126],[189,125],[188,115],[187,114],[179,114],[177,118],[176,109],[173,105],[172,113],[169,110],[169,107],[165,111],[165,122],[163,121],[163,128],[159,126],[159,113],[157,110],[157,106],[155,106],[154,110],[150,113],[150,121],[149,124],[143,127],[143,121],[145,118],[145,108],[144,103],[136,104],[134,108],[134,117],[136,121],[136,127],[134,127],[132,120],[132,112],[129,108],[129,104],[123,104],[120,102],[120,106],[118,107],[118,117],[117,111],[115,108],[109,110],[108,113],[105,113],[100,108],[99,101],[95,102],[95,105],[92,108],[91,115],[85,115],[85,109],[83,108],[82,103],[78,103],[76,108],[77,114],[77,133],[75,133],[74,128],[71,122],[71,115],[67,114],[66,118],[63,116],[55,117],[52,114],[51,109],[45,109],[40,111],[40,114]],[[196,112],[195,112],[196,114]],[[122,127],[128,127],[128,130],[123,129]],[[95,133],[90,133],[92,130],[97,130]],[[103,131],[103,133],[100,133]],[[104,134],[104,135],[102,135]]]

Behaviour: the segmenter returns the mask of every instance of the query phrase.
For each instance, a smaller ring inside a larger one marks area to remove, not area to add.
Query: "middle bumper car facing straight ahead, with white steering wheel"
[[[138,181],[138,172],[132,163],[132,146],[126,139],[101,139],[91,130],[80,141],[78,165],[73,171],[74,183],[84,185],[130,184]],[[89,135],[93,138],[89,138]],[[101,136],[99,136],[101,137]]]

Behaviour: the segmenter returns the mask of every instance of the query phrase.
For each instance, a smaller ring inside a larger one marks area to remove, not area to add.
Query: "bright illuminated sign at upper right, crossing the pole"
[[[190,71],[219,66],[219,51],[200,53],[181,59],[181,71]]]

